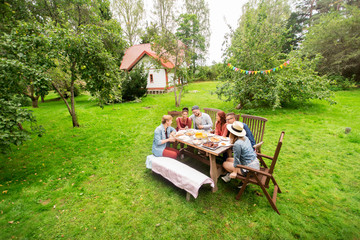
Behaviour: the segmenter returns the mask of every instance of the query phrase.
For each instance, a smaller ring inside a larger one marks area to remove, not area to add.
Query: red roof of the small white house
[[[126,50],[121,62],[120,69],[130,71],[145,54],[156,60],[159,59],[159,56],[156,54],[156,52],[151,50],[150,43],[134,45]],[[161,65],[163,65],[165,68],[174,67],[174,63],[171,60],[165,60],[164,58],[161,59]]]

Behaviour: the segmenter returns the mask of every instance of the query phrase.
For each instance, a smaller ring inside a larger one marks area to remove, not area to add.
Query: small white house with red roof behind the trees
[[[171,91],[174,88],[174,73],[170,71],[174,68],[175,61],[172,57],[161,58],[161,64],[158,64],[158,59],[159,56],[151,49],[150,43],[134,45],[126,50],[120,69],[131,71],[137,65],[143,64],[144,68],[149,71],[146,86],[148,93],[157,94]]]

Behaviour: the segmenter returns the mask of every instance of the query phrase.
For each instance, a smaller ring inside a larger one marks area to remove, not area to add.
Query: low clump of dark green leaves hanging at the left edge
[[[0,149],[4,151],[10,145],[21,145],[30,139],[31,132],[23,129],[26,121],[31,123],[31,131],[41,137],[44,129],[36,125],[36,119],[31,111],[20,108],[19,103],[0,98]],[[0,153],[1,154],[1,153]]]

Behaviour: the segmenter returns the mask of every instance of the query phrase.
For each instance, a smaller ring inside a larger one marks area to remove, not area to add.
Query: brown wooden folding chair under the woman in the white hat
[[[278,159],[278,156],[279,156],[279,153],[280,153],[280,150],[281,150],[284,135],[285,135],[285,132],[282,132],[281,135],[280,135],[279,142],[278,142],[278,145],[276,147],[276,151],[275,151],[275,154],[274,154],[273,157],[266,156],[266,155],[261,154],[261,153],[257,153],[259,161],[264,166],[264,167],[261,167],[260,170],[256,170],[256,169],[253,169],[253,168],[250,168],[250,167],[247,167],[247,166],[243,166],[243,165],[240,165],[240,164],[236,166],[237,168],[248,170],[246,176],[238,174],[237,177],[236,177],[237,179],[240,179],[243,182],[243,185],[242,185],[239,193],[236,196],[237,200],[240,199],[241,195],[245,191],[246,186],[249,183],[256,184],[256,185],[261,187],[261,190],[265,194],[265,196],[266,196],[267,200],[269,201],[271,207],[278,214],[280,214],[279,210],[276,207],[276,196],[277,196],[278,192],[281,193],[281,190],[279,188],[279,185],[275,181],[275,178],[273,176],[273,172],[274,172],[275,164],[276,164],[276,161]],[[263,158],[267,158],[267,159],[271,160],[270,167],[268,167],[266,165]],[[266,190],[266,188],[269,188],[270,180],[274,184],[274,191],[273,191],[273,196],[272,197],[270,197],[269,193]]]

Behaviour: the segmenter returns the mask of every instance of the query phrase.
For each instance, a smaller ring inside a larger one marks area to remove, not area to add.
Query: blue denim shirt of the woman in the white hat
[[[236,167],[238,164],[247,166],[256,159],[256,153],[251,146],[249,138],[246,136],[244,138],[244,141],[239,139],[234,143],[234,167]]]

